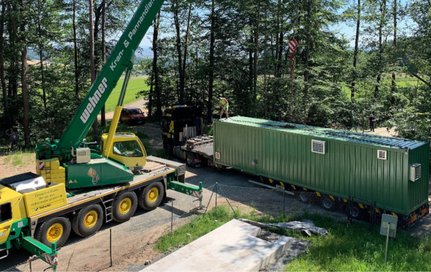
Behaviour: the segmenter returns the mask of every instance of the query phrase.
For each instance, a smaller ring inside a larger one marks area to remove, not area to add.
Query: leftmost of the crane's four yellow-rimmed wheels
[[[56,242],[57,248],[63,247],[70,235],[70,221],[65,217],[51,218],[37,228],[35,237],[39,242],[51,247]]]

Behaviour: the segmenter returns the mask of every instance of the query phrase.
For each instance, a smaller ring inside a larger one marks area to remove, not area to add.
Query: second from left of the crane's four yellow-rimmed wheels
[[[99,204],[92,204],[82,208],[72,218],[73,231],[82,237],[92,235],[104,223],[104,211]]]

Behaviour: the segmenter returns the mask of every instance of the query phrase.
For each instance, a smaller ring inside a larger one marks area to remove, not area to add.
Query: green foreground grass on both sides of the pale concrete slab
[[[277,233],[297,237],[311,242],[310,247],[297,259],[285,266],[285,271],[430,271],[431,237],[419,239],[404,230],[397,230],[396,238],[389,240],[387,263],[385,264],[386,237],[380,235],[380,226],[368,230],[362,222],[337,222],[320,214],[304,214],[299,218],[270,218],[253,214],[240,214],[240,218],[275,223],[292,219],[308,218],[328,230],[326,237],[313,235],[304,237],[289,231]],[[161,237],[155,249],[170,252],[176,247],[209,233],[232,219],[227,207],[218,206],[204,216],[194,218],[174,233]],[[217,221],[215,221],[217,220]]]

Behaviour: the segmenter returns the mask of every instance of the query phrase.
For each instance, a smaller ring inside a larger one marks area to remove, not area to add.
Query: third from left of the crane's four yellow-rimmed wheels
[[[135,192],[125,192],[115,199],[112,205],[112,217],[114,221],[125,222],[135,214],[137,208],[137,196]]]

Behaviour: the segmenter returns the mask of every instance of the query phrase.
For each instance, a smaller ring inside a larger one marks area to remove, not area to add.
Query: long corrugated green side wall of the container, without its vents
[[[311,152],[311,140],[324,140],[325,154]],[[387,151],[387,160],[377,159],[377,150]],[[417,196],[409,197],[409,156],[403,149],[216,121],[214,152],[220,153],[215,163],[339,197],[376,201],[377,206],[403,214],[424,200],[420,180],[411,186]]]

